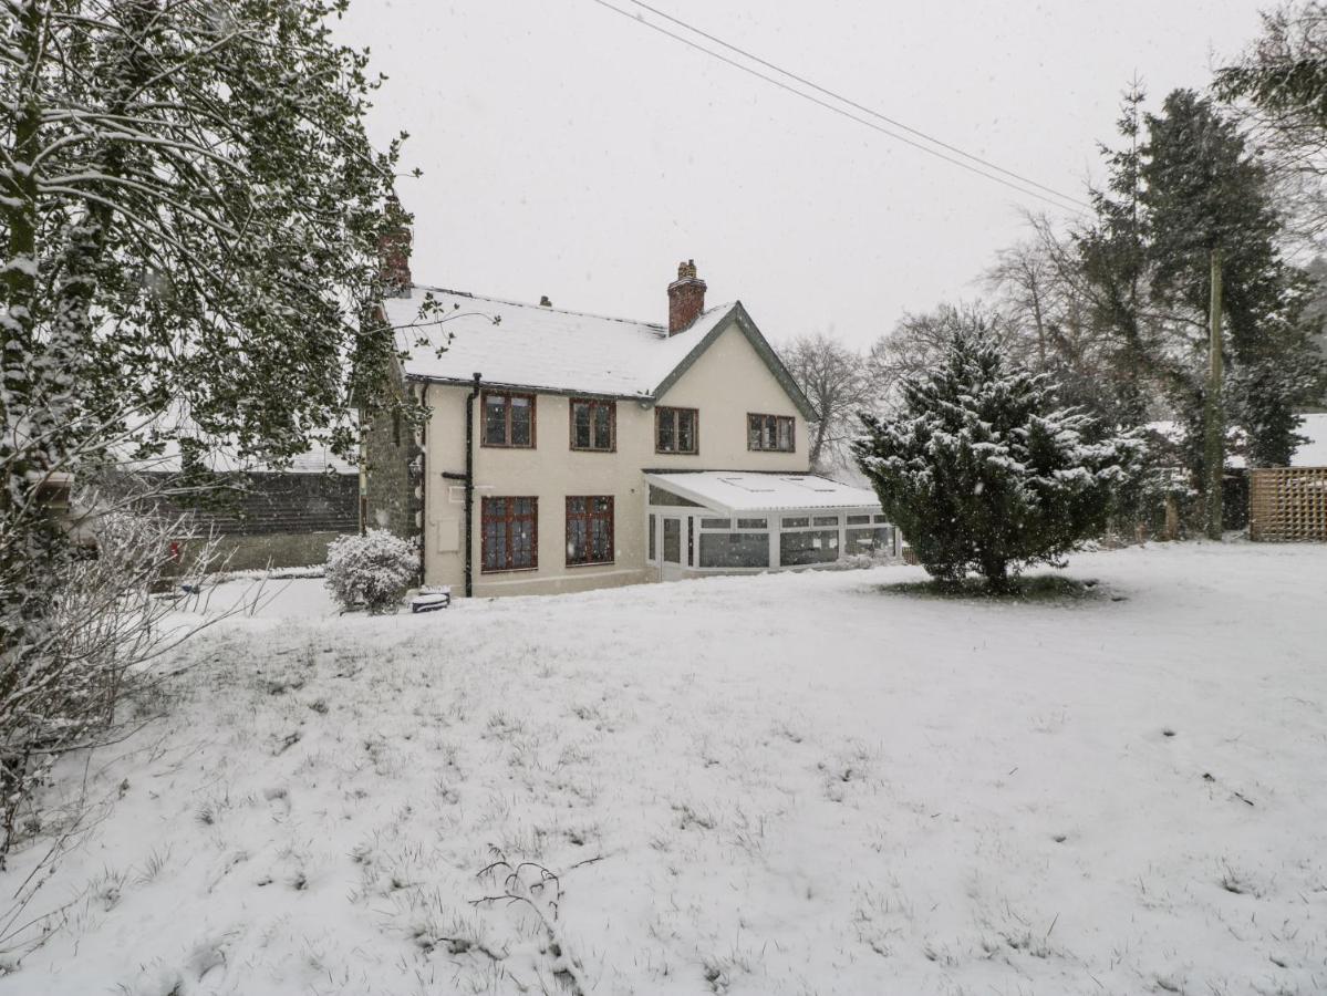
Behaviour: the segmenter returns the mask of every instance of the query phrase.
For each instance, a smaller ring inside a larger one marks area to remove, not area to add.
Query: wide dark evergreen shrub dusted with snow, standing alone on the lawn
[[[1063,408],[1056,387],[1006,361],[986,330],[958,332],[901,385],[898,415],[864,415],[853,454],[890,521],[936,578],[1055,564],[1104,532],[1143,444]]]

